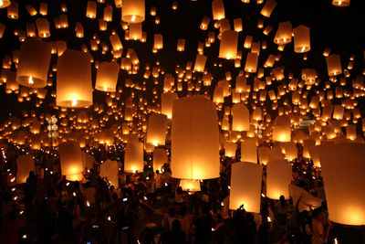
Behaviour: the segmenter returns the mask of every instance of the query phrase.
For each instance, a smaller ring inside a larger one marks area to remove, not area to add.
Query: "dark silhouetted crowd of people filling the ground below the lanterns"
[[[35,154],[37,164],[47,164],[43,177],[30,172],[26,184],[16,185],[9,176],[16,172],[16,155],[31,152],[9,145],[0,168],[0,243],[363,243],[363,228],[328,220],[320,170],[298,152],[292,184],[322,198],[322,205],[299,211],[301,197],[293,204],[263,195],[260,213],[253,214],[228,209],[231,164],[239,155],[221,152],[221,177],[201,181],[198,192],[183,191],[168,162],[162,169],[145,162],[143,172],[120,171],[119,186],[110,186],[99,175],[99,162],[123,157],[105,148],[89,151],[96,163],[82,182],[51,170],[59,164],[54,152]],[[263,188],[265,177],[264,167]]]

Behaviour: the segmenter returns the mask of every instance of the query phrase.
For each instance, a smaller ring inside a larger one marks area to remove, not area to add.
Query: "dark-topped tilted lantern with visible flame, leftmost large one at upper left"
[[[16,81],[26,87],[46,87],[51,55],[51,45],[48,42],[26,38],[20,48]]]

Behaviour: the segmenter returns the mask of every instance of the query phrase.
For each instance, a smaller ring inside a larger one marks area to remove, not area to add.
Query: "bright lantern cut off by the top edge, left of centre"
[[[121,20],[127,23],[141,23],[144,21],[144,0],[123,0]]]

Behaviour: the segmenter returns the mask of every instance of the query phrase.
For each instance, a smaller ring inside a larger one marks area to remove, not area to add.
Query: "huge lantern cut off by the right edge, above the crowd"
[[[365,225],[365,145],[340,143],[324,146],[319,153],[329,220]]]

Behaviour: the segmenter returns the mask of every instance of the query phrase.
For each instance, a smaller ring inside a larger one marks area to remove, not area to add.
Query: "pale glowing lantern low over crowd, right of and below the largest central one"
[[[260,212],[262,169],[259,164],[232,164],[229,209],[244,207],[247,212]]]

